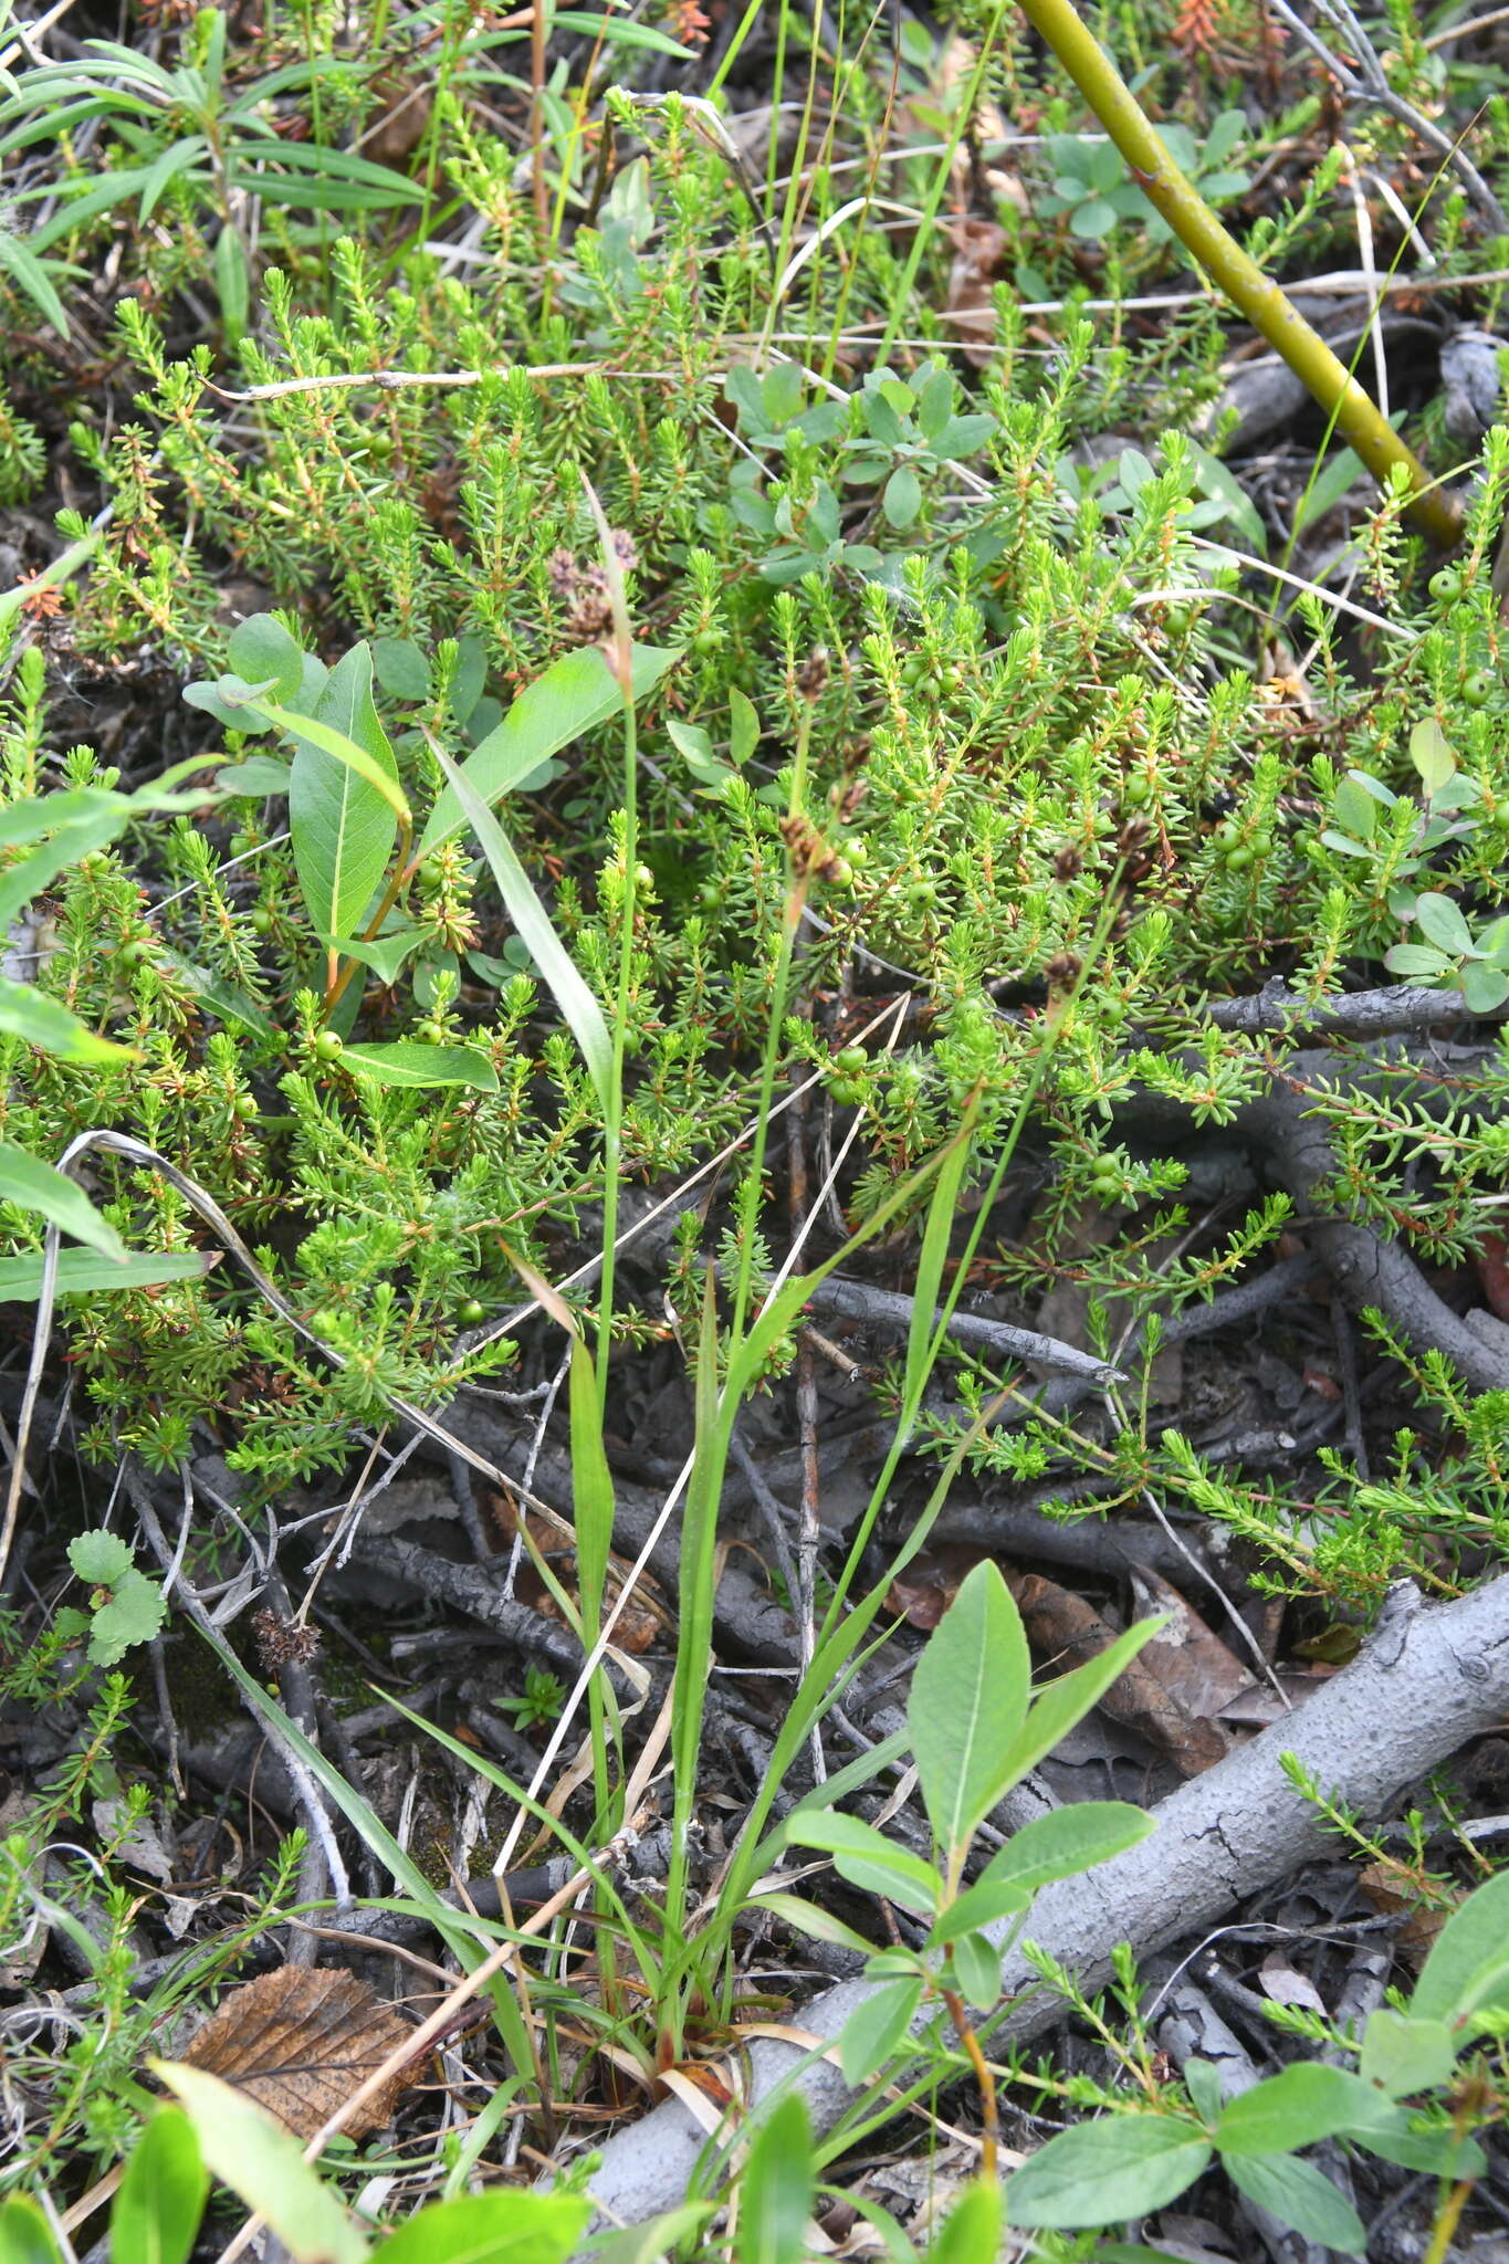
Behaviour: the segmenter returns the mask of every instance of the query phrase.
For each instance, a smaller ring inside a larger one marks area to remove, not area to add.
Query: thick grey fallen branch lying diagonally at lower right
[[[1170,1793],[1154,1809],[1158,1829],[1138,1847],[1047,1886],[1032,1906],[1027,1936],[1084,1988],[1100,1988],[1118,1943],[1147,1956],[1199,1933],[1326,1850],[1326,1823],[1285,1775],[1285,1755],[1326,1793],[1376,1820],[1504,1709],[1509,1576],[1439,1605],[1423,1605],[1419,1589],[1403,1583],[1351,1666],[1296,1714]],[[1009,1927],[991,1931],[1004,1940]],[[796,2013],[794,2024],[833,2042],[871,1990],[869,1981],[842,1981]],[[1023,2042],[1063,2013],[1020,1947],[1004,1956],[1002,1997],[1018,2001],[993,2031],[995,2042]],[[742,2065],[747,2074],[731,2067],[728,2081],[751,2103],[796,2072],[817,2133],[830,2130],[853,2099],[835,2065],[774,2038],[753,2040]],[[679,2099],[615,2133],[588,2187],[604,2221],[640,2223],[676,2207],[706,2146],[706,2133]]]

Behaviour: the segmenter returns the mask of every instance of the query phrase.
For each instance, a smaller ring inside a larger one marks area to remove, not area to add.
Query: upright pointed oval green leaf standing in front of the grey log
[[[907,1698],[923,1802],[948,1861],[1011,1784],[1004,1770],[1029,1687],[1023,1619],[986,1558],[928,1637]]]

